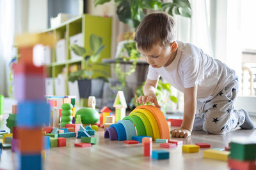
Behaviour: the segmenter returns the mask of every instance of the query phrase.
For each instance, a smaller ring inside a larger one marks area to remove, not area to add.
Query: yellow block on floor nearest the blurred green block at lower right
[[[220,150],[209,149],[209,150],[205,150],[203,152],[203,157],[204,158],[209,158],[209,159],[227,161],[229,154],[230,154],[230,152],[228,152],[228,151],[220,151]]]

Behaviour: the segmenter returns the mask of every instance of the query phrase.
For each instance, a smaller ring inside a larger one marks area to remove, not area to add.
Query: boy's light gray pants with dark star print
[[[213,99],[197,101],[193,130],[225,134],[240,127],[244,123],[245,115],[243,110],[234,110],[238,86],[238,80],[233,80]]]

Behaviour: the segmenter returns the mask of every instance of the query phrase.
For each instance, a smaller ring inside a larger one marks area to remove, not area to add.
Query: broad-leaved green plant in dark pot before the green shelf
[[[100,69],[92,69],[93,64],[108,66],[108,64],[98,62],[98,60],[100,59],[100,53],[105,48],[105,46],[106,45],[102,45],[102,38],[96,36],[95,34],[91,34],[90,36],[90,55],[86,53],[84,47],[75,44],[70,45],[70,51],[73,51],[74,53],[76,53],[76,55],[83,57],[86,69],[81,69],[76,72],[70,73],[70,75],[68,76],[68,80],[74,82],[76,80],[91,79],[93,73],[95,72],[100,72],[104,74],[104,76],[108,76],[108,73],[106,73],[106,71],[102,71]]]

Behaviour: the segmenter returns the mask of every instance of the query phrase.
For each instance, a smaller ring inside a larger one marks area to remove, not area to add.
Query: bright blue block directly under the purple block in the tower
[[[50,105],[45,101],[24,101],[18,104],[17,126],[38,127],[50,122]]]

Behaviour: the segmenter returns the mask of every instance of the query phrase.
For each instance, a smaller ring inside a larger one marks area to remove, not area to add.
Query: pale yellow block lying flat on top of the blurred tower
[[[51,34],[20,34],[15,37],[15,45],[18,47],[34,46],[37,44],[54,46],[54,36]]]

